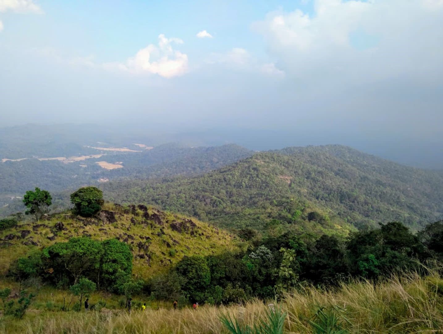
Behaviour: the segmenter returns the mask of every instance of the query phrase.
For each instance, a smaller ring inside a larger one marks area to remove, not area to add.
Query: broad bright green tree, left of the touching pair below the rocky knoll
[[[44,248],[47,277],[58,283],[67,274],[74,284],[81,276],[92,278],[100,267],[102,250],[99,241],[86,237],[71,238],[68,242]]]

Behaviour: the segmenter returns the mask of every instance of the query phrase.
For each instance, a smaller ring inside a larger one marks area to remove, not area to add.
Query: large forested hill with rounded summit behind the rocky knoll
[[[230,227],[297,224],[309,212],[323,223],[359,228],[392,220],[420,228],[443,216],[440,173],[340,145],[256,153],[198,177],[114,182],[104,190],[111,200],[148,202]]]

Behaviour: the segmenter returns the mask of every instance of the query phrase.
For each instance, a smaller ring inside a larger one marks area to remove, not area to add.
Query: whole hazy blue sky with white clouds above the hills
[[[0,0],[0,127],[441,143],[442,36],[443,0]]]

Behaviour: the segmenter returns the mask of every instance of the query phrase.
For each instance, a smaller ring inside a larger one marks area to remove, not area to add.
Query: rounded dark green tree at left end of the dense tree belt
[[[181,260],[176,271],[184,279],[183,292],[191,300],[202,300],[203,292],[211,280],[211,272],[201,256],[190,256]]]

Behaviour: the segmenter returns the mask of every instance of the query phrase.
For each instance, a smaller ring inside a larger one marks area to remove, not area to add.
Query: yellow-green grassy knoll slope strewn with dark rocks
[[[167,271],[183,256],[213,255],[236,248],[236,237],[196,219],[144,205],[105,204],[97,218],[55,214],[37,223],[22,221],[0,231],[0,275],[11,263],[33,250],[72,237],[117,238],[133,253],[133,274],[140,278]],[[237,241],[239,241],[237,239]]]

